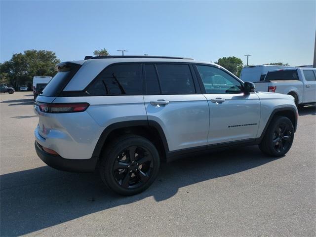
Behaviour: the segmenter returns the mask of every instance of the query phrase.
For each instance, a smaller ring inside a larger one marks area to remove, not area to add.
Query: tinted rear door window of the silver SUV
[[[195,94],[189,65],[157,64],[162,94]]]

